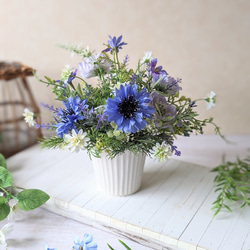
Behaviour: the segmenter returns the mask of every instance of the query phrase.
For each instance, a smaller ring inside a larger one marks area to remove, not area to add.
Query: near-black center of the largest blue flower
[[[129,96],[122,100],[121,103],[117,105],[118,111],[125,119],[134,117],[134,113],[138,110],[139,101],[136,100],[133,96]]]

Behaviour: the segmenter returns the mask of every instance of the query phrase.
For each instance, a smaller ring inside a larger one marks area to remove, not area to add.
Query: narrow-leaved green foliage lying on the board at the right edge
[[[237,158],[235,162],[223,158],[221,165],[212,170],[217,175],[214,179],[215,191],[219,193],[213,202],[214,216],[225,208],[232,212],[232,206],[239,204],[242,208],[250,206],[250,157]]]

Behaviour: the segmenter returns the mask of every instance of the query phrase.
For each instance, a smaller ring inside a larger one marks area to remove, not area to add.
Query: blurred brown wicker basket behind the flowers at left
[[[0,153],[6,158],[37,142],[40,129],[24,122],[24,108],[38,114],[26,77],[34,70],[19,62],[0,62]],[[40,116],[36,118],[40,123]]]

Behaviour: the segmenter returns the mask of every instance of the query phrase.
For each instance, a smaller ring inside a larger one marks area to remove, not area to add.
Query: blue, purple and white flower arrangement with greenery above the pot
[[[45,77],[39,81],[52,86],[63,107],[43,105],[52,113],[49,124],[36,124],[35,115],[25,110],[26,122],[51,129],[55,135],[42,139],[42,147],[68,148],[72,152],[86,149],[90,156],[106,152],[111,158],[130,150],[158,160],[180,155],[174,145],[177,135],[203,133],[207,124],[219,127],[212,118],[199,120],[196,101],[181,96],[181,79],[170,76],[150,52],[138,61],[136,69],[121,61],[119,51],[127,43],[109,36],[100,53],[74,46],[60,47],[82,57],[78,68],[65,67],[59,80]],[[96,77],[97,85],[87,80]],[[200,99],[199,99],[200,100]],[[208,108],[215,94],[203,98]]]

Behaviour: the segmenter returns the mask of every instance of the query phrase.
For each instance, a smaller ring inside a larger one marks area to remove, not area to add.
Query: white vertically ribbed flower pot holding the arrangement
[[[113,196],[126,196],[141,186],[146,155],[130,151],[110,159],[105,154],[93,157],[93,167],[98,190]]]

